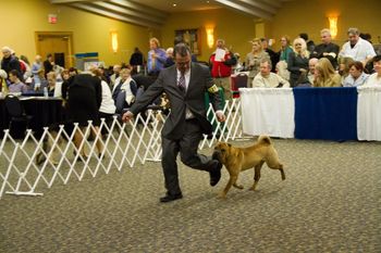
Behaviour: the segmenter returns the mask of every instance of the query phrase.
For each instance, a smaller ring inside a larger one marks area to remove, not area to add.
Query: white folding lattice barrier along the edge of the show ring
[[[226,121],[219,123],[209,106],[208,116],[216,130],[212,136],[205,136],[199,149],[210,148],[216,141],[242,138],[241,100],[226,101],[223,112]],[[165,118],[161,111],[148,110],[146,117],[137,115],[128,123],[114,117],[108,125],[101,119],[98,130],[91,122],[86,127],[74,124],[70,132],[64,126],[54,132],[46,127],[39,139],[27,130],[21,141],[4,130],[0,144],[0,199],[3,193],[41,195],[53,185],[81,181],[109,174],[111,169],[134,167],[136,163],[159,162]],[[107,135],[102,136],[102,131]],[[74,146],[75,132],[82,137],[78,148]],[[82,155],[82,149],[86,155]]]

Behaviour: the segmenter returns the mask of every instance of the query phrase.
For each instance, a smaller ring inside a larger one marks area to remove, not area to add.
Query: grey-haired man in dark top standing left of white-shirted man
[[[340,51],[339,45],[332,43],[332,36],[330,29],[322,29],[320,31],[321,43],[316,46],[312,55],[317,59],[327,58],[332,63],[333,68],[337,67],[337,54]]]

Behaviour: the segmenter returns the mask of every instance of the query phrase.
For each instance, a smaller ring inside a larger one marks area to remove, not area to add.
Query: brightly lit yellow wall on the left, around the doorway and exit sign
[[[111,65],[128,62],[134,47],[148,50],[150,31],[76,9],[50,4],[49,0],[0,0],[0,47],[9,46],[33,61],[36,54],[35,31],[73,31],[74,53],[99,52],[99,60]],[[48,14],[57,14],[58,23],[49,24]],[[119,33],[120,50],[111,50],[110,31]],[[9,36],[7,36],[9,35]]]

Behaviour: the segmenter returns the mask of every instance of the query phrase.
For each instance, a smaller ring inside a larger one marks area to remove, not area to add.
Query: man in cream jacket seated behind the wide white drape
[[[271,72],[271,60],[263,59],[260,62],[260,72],[253,80],[253,88],[288,88],[290,83],[280,75]]]

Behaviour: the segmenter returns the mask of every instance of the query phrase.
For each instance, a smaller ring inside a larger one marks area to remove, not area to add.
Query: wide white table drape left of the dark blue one
[[[241,88],[239,93],[245,134],[294,138],[292,88]]]

